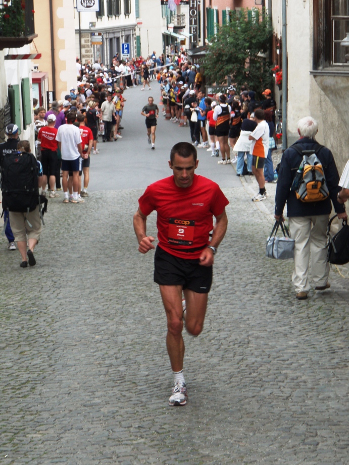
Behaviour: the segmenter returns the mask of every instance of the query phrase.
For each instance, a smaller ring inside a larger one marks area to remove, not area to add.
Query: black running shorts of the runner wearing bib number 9
[[[198,259],[178,258],[165,252],[159,246],[154,258],[154,281],[160,285],[181,285],[197,294],[210,292],[212,266],[202,266]]]

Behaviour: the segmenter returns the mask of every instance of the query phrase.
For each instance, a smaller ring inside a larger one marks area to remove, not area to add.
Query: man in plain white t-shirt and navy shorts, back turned
[[[82,169],[82,141],[79,128],[73,125],[76,119],[76,113],[74,111],[70,111],[66,118],[67,124],[58,128],[56,136],[58,146],[62,153],[63,203],[69,203],[69,200],[72,203],[78,203],[79,171]],[[68,196],[69,171],[73,173],[73,195],[71,199],[69,199]]]

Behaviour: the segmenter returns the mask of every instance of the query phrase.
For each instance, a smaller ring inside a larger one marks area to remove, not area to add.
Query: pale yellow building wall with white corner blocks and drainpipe
[[[49,5],[53,6],[53,22],[49,17]],[[35,32],[34,39],[40,60],[33,60],[39,71],[48,73],[49,90],[55,90],[56,100],[63,100],[70,87],[77,86],[76,51],[74,28],[74,0],[34,0]],[[54,36],[54,62],[56,88],[53,88],[53,66],[51,28]]]

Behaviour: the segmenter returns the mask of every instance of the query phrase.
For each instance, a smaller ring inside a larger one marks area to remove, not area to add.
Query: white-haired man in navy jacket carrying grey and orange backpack
[[[287,203],[289,229],[294,245],[292,282],[296,298],[308,298],[310,278],[315,290],[330,287],[328,282],[326,229],[332,210],[347,219],[344,205],[338,202],[339,175],[331,151],[315,140],[318,123],[305,117],[297,123],[300,136],[282,155],[275,195],[275,218],[283,219]],[[311,276],[309,265],[311,262]]]

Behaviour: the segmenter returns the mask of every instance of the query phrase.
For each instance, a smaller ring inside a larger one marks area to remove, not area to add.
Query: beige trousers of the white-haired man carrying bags
[[[292,282],[296,293],[309,292],[309,272],[316,286],[327,284],[330,272],[326,248],[328,219],[329,215],[289,217],[291,238],[295,240]]]

